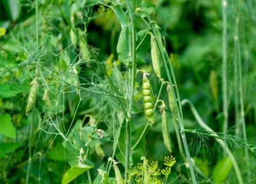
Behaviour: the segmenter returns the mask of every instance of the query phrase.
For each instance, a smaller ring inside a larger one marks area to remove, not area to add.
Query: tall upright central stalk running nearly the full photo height
[[[135,78],[136,78],[136,32],[135,32],[135,22],[134,22],[134,15],[133,15],[133,10],[130,4],[129,0],[125,0],[127,10],[130,14],[130,21],[131,21],[131,26],[130,26],[130,31],[132,32],[132,35],[130,35],[130,51],[132,54],[132,85],[131,85],[131,94],[130,94],[130,99],[129,99],[129,108],[127,112],[127,118],[126,118],[126,128],[125,128],[125,133],[126,133],[126,142],[125,142],[125,180],[126,174],[127,174],[127,169],[129,168],[130,165],[130,152],[131,152],[131,114],[132,114],[132,106],[133,106],[133,96],[134,96],[134,90],[135,90]]]

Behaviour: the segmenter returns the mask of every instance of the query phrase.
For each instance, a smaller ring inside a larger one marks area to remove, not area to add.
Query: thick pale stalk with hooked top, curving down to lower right
[[[195,119],[197,120],[197,122],[199,123],[199,125],[204,128],[205,130],[207,130],[209,132],[209,134],[211,134],[212,136],[217,135],[217,137],[219,136],[214,130],[212,130],[210,127],[208,127],[208,125],[206,125],[204,123],[204,121],[201,119],[201,117],[199,116],[199,113],[197,112],[197,109],[195,108],[194,104],[189,101],[188,99],[182,100],[181,102],[182,105],[188,104],[191,111],[194,114]],[[238,178],[238,182],[239,184],[243,184],[243,179],[242,179],[242,175],[240,172],[240,169],[238,167],[237,164],[237,160],[234,157],[234,155],[231,153],[231,151],[229,150],[229,148],[227,147],[226,143],[222,140],[222,139],[218,139],[216,138],[216,141],[221,145],[221,147],[223,148],[223,150],[227,153],[227,155],[229,156],[229,158],[231,159],[231,162],[233,164],[233,168],[234,171],[236,172],[237,178]]]

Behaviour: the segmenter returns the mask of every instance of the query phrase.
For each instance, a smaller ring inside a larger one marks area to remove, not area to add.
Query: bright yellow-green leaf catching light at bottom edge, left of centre
[[[75,165],[69,168],[64,176],[62,177],[61,184],[66,184],[75,179],[77,176],[80,174],[86,172],[89,169],[92,169],[93,166],[85,165],[85,164],[80,164],[80,165]]]

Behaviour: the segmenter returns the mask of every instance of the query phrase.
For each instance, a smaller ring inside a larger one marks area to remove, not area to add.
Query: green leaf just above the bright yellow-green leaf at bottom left
[[[65,158],[70,166],[75,166],[78,164],[78,157],[80,156],[79,151],[69,142],[66,141],[63,143],[65,148]]]

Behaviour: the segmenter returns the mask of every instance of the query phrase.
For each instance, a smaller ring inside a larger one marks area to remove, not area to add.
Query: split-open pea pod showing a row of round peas
[[[152,89],[150,81],[147,79],[146,75],[146,73],[143,74],[142,83],[143,106],[146,118],[154,123]]]

